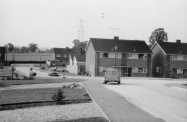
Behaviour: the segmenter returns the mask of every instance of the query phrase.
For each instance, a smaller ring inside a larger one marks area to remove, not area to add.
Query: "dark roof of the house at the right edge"
[[[160,47],[167,54],[184,54],[187,55],[187,43],[162,42]]]

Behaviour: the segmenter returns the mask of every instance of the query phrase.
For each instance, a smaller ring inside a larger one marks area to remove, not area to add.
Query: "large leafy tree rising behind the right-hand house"
[[[168,41],[168,36],[164,28],[155,29],[152,32],[151,36],[149,37],[149,42],[151,44],[154,44],[155,42],[162,43],[162,42],[167,42],[167,41]]]

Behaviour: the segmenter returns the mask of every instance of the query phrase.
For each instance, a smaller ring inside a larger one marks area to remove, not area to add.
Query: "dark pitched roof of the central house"
[[[118,52],[151,53],[145,41],[140,40],[90,38],[90,41],[96,51],[113,52],[114,46],[117,46]]]

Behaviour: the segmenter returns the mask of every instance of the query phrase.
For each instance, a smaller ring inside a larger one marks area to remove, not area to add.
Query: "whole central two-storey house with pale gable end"
[[[106,68],[122,76],[150,76],[151,50],[145,41],[91,38],[86,49],[86,72],[102,76]]]

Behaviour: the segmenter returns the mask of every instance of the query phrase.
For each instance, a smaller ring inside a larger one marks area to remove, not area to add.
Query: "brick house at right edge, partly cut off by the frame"
[[[151,49],[153,76],[187,77],[187,43],[156,42]]]

